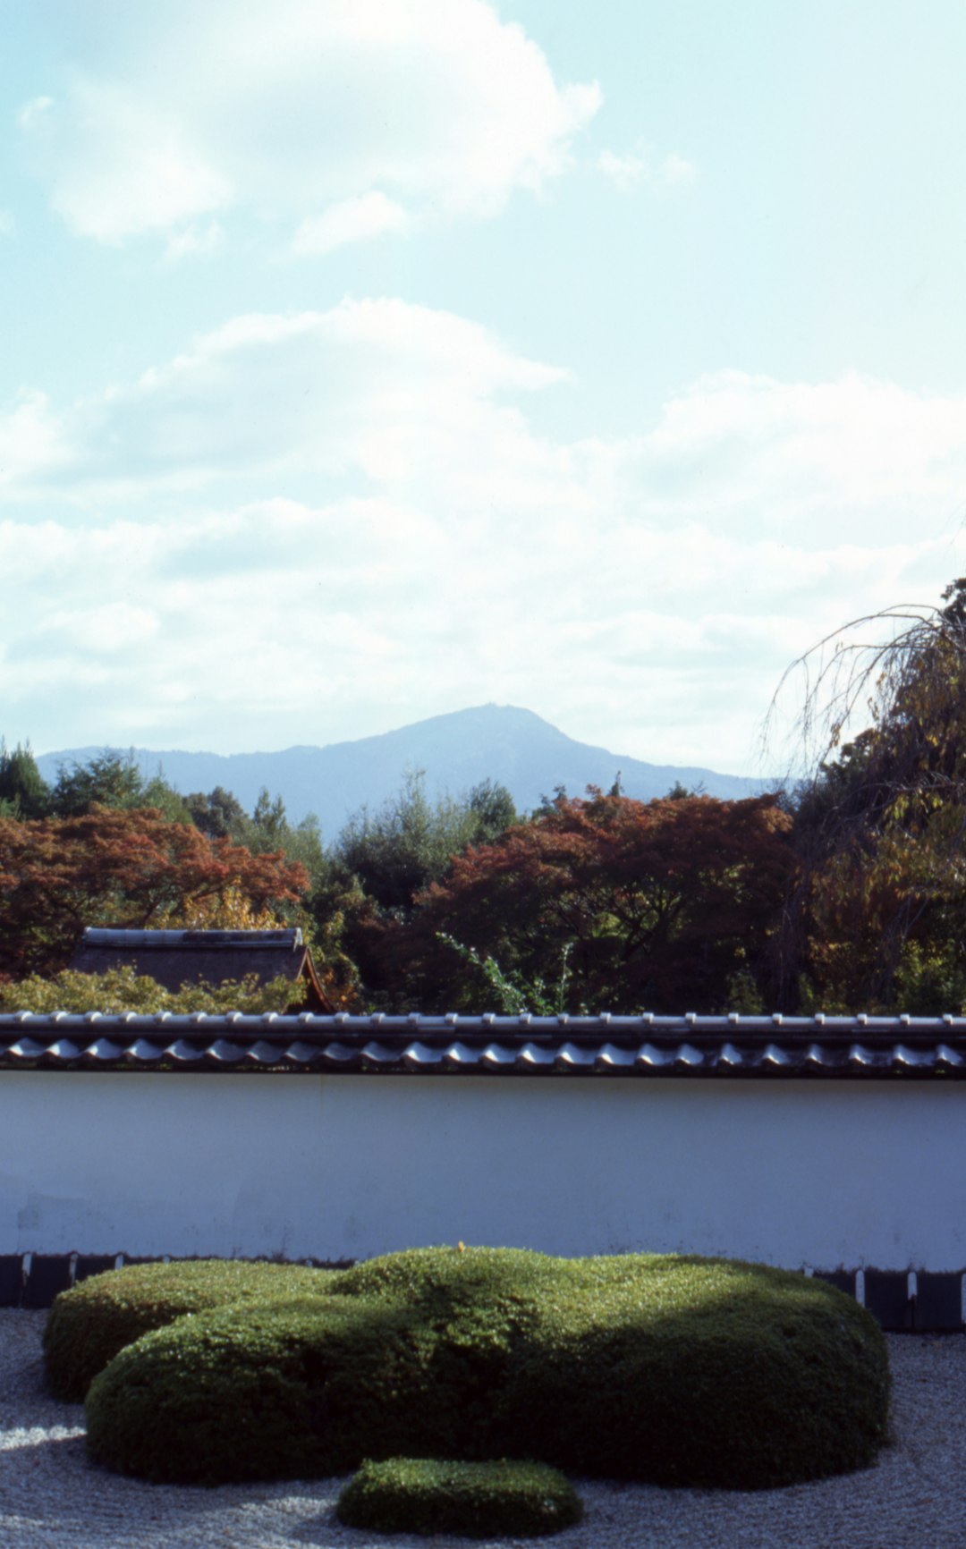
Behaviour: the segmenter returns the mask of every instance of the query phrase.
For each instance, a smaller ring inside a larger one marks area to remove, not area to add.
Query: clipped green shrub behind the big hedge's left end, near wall
[[[128,1264],[91,1275],[54,1300],[43,1327],[46,1382],[54,1399],[82,1403],[99,1371],[150,1329],[232,1301],[330,1290],[337,1272],[294,1264],[187,1259]]]

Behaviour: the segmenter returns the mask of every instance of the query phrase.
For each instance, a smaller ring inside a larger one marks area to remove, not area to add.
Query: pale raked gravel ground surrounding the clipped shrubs
[[[43,1312],[0,1309],[0,1549],[367,1549],[469,1544],[334,1520],[339,1479],[217,1490],[94,1467],[80,1405],[54,1403]],[[875,1468],[788,1490],[656,1490],[577,1479],[559,1549],[966,1549],[966,1338],[893,1334],[895,1444]],[[540,1540],[488,1540],[517,1546]],[[477,1540],[477,1549],[486,1544]]]

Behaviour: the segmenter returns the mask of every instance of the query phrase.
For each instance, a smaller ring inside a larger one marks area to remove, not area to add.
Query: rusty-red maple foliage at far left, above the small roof
[[[276,909],[307,886],[297,863],[209,840],[158,810],[0,819],[0,973],[65,967],[85,925],[180,925],[198,912],[218,925],[218,903]]]

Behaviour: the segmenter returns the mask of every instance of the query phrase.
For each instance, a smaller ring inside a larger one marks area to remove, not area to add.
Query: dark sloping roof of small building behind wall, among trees
[[[305,979],[307,1010],[333,1011],[319,984],[302,931],[113,931],[88,926],[74,950],[71,968],[105,973],[132,967],[166,990],[183,984],[223,984],[255,974],[269,979]]]

